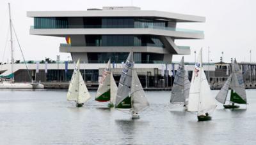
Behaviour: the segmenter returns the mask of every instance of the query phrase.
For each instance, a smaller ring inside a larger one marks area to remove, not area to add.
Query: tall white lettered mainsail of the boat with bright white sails
[[[198,111],[200,97],[201,73],[202,72],[202,51],[196,59],[195,68],[192,74],[191,85],[188,98],[188,111]]]

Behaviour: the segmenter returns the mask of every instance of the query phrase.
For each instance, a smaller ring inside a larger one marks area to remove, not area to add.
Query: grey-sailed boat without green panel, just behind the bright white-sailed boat
[[[190,82],[184,67],[184,57],[180,60],[179,68],[175,74],[170,102],[172,104],[184,104],[185,110],[188,107]]]

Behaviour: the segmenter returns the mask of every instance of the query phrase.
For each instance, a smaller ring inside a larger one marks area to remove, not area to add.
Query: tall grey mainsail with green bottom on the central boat
[[[131,96],[129,96],[129,90],[131,89],[133,65],[133,53],[130,52],[123,67],[122,75],[119,81],[118,90],[116,93],[116,108],[131,108]]]

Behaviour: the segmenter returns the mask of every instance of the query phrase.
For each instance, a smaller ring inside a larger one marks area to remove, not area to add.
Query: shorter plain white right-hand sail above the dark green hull
[[[216,102],[211,94],[211,89],[204,73],[204,68],[201,69],[201,84],[198,104],[198,115],[212,113],[216,107]]]

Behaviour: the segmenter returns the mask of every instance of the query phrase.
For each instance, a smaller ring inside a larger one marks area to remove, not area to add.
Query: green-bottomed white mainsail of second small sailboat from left
[[[95,100],[99,102],[106,102],[110,100],[110,59],[104,71],[102,78],[99,81],[99,88],[96,93]]]

